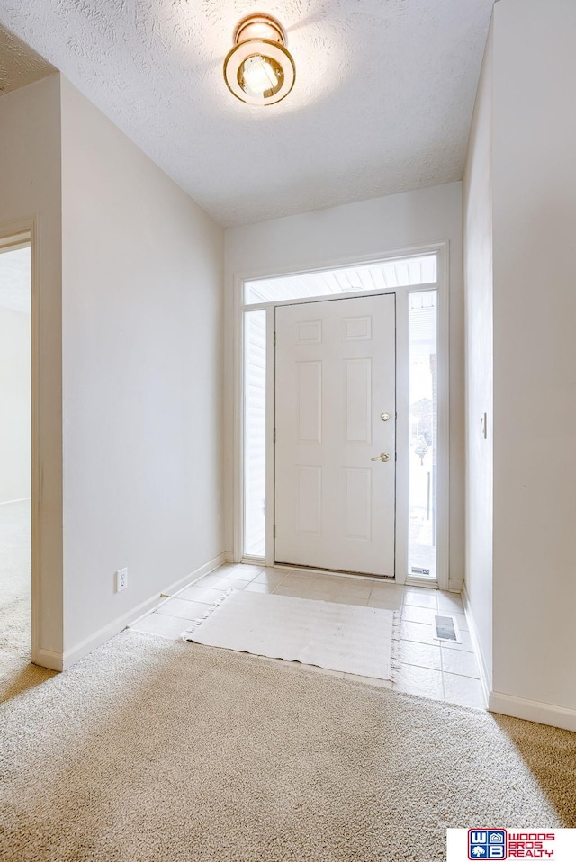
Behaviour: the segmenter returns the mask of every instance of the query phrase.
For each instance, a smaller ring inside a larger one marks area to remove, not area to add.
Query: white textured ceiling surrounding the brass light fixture
[[[0,0],[221,224],[460,179],[492,0]],[[296,85],[239,103],[222,60],[248,12],[288,32]]]

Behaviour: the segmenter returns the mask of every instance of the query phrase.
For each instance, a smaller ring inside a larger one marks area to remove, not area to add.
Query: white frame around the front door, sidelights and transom
[[[244,302],[246,282],[285,275],[324,272],[347,266],[376,264],[401,257],[437,255],[437,282],[415,284],[388,291],[357,291],[320,297],[255,303]],[[409,476],[410,476],[410,414],[408,373],[408,296],[412,292],[437,291],[437,579],[419,579],[408,574],[409,537]],[[448,589],[449,583],[449,511],[450,511],[450,382],[449,382],[449,243],[437,242],[426,246],[393,249],[374,256],[347,256],[319,264],[291,268],[266,268],[234,274],[234,476],[233,517],[235,562],[262,565],[262,558],[244,554],[244,326],[245,310],[266,310],[266,453],[274,452],[275,424],[275,308],[338,299],[396,294],[396,549],[395,582]],[[266,457],[266,567],[275,566],[275,458]],[[295,567],[296,568],[296,567]],[[314,569],[304,571],[313,572]],[[369,578],[362,575],[357,577]]]

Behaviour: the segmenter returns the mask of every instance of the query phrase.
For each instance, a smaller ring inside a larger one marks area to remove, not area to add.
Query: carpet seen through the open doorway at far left
[[[54,676],[30,661],[30,500],[0,506],[0,703]]]

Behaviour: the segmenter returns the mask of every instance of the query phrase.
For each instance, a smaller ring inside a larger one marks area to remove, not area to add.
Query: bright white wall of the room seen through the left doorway
[[[0,503],[31,493],[30,342],[30,315],[0,307]]]

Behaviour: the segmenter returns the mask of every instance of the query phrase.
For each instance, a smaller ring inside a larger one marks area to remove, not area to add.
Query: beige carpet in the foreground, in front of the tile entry
[[[447,826],[576,826],[576,734],[145,634],[0,726],[10,862],[435,862]]]

